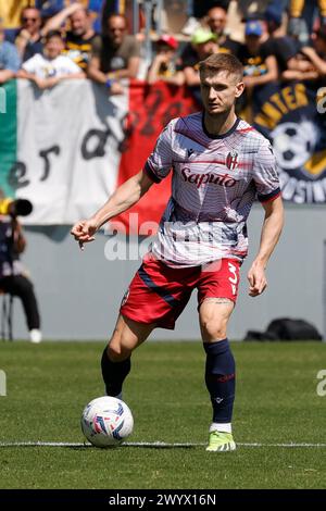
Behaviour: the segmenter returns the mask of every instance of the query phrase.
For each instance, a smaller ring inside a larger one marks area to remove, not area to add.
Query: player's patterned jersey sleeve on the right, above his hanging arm
[[[264,140],[255,155],[253,180],[260,202],[275,200],[280,195],[276,159],[268,140]]]

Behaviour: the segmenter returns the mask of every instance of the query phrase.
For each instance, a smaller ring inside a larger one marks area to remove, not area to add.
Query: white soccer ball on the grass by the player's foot
[[[117,398],[103,396],[84,409],[82,431],[96,447],[117,447],[131,433],[134,419],[127,404]]]

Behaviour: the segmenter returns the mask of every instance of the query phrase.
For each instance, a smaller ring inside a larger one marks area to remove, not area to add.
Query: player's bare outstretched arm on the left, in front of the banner
[[[121,185],[90,219],[77,222],[71,234],[79,242],[80,248],[83,249],[84,244],[95,240],[95,234],[105,222],[136,204],[152,184],[153,180],[143,171],[140,171]]]

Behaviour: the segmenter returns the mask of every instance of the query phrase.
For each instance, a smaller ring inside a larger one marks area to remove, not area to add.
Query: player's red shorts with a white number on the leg
[[[237,300],[240,262],[222,259],[205,266],[170,267],[145,259],[121,306],[121,314],[137,323],[173,329],[177,317],[198,289],[198,307],[205,298]]]

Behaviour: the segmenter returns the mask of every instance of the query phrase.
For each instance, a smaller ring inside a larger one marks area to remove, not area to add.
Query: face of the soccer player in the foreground
[[[234,74],[222,71],[201,76],[201,96],[205,111],[220,115],[233,108],[243,91],[243,83]]]

